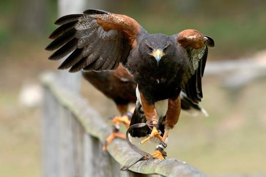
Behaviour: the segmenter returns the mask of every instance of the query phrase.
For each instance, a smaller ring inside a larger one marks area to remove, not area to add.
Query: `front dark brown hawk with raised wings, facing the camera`
[[[165,142],[179,118],[182,89],[193,103],[201,101],[207,47],[214,47],[211,37],[192,29],[171,36],[149,34],[135,19],[102,10],[64,16],[55,24],[60,26],[50,35],[54,40],[46,50],[59,49],[49,59],[72,52],[59,69],[109,71],[121,64],[133,76],[138,87],[131,122],[146,122],[152,130],[142,143],[151,137]],[[139,136],[138,131],[131,136]],[[152,156],[163,159],[161,152]]]

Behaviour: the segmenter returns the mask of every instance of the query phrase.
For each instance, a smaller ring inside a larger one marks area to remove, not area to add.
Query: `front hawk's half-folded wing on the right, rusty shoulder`
[[[214,47],[214,41],[211,37],[202,35],[196,30],[184,30],[177,35],[177,45],[186,48],[190,58],[181,88],[191,101],[201,102],[203,97],[201,78],[206,65],[208,46]]]

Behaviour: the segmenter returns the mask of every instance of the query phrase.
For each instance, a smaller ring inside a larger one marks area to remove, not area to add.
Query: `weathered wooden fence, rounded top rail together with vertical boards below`
[[[42,149],[44,177],[205,177],[193,166],[177,159],[144,160],[130,171],[125,164],[140,159],[124,140],[116,139],[102,151],[111,132],[88,101],[63,87],[53,73],[41,77],[44,88]],[[150,175],[144,175],[150,174]]]

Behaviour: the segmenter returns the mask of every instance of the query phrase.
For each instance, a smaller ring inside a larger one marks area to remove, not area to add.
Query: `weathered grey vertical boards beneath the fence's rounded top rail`
[[[102,142],[85,132],[51,90],[45,90],[43,124],[44,177],[116,177],[120,164],[102,152]]]

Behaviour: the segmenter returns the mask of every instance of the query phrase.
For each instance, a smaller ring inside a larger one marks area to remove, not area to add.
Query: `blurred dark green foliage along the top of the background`
[[[46,29],[41,34],[45,37],[55,29],[53,21],[57,18],[57,7],[55,0],[42,1],[48,6],[45,9],[47,19],[36,22],[45,24]],[[23,29],[14,29],[13,24],[19,15],[23,15],[22,4],[19,0],[1,0],[0,43],[12,37],[10,31],[27,36]],[[104,0],[103,7],[135,18],[150,33],[172,35],[192,28],[210,35],[216,43],[211,59],[248,56],[266,47],[265,0]],[[88,4],[84,10],[88,8],[93,7]]]

